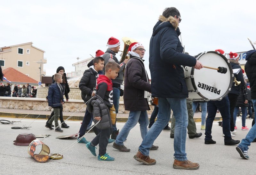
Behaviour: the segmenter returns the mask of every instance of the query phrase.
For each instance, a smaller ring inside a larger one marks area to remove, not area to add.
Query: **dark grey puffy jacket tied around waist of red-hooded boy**
[[[112,122],[109,112],[109,107],[104,103],[103,99],[95,94],[95,96],[90,99],[87,103],[87,109],[93,115],[93,122],[96,124],[98,120],[95,120],[94,117],[101,117],[100,123],[96,127],[100,130],[112,128]]]

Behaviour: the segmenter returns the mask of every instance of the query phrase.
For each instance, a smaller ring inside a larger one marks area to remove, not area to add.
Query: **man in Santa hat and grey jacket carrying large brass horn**
[[[112,80],[113,83],[113,104],[116,109],[116,114],[118,113],[119,108],[119,99],[120,99],[120,87],[123,84],[123,77],[124,72],[123,69],[125,68],[125,64],[127,63],[128,59],[125,59],[124,62],[120,63],[116,58],[116,53],[118,53],[120,49],[120,41],[114,37],[110,37],[107,43],[108,49],[102,55],[104,59],[104,65],[108,63],[108,61],[115,61],[120,66],[120,70],[118,72],[118,76],[115,80]],[[105,74],[105,68],[103,68],[103,73]],[[111,134],[111,139],[116,139],[119,130],[116,128],[116,124],[113,125],[113,133]]]

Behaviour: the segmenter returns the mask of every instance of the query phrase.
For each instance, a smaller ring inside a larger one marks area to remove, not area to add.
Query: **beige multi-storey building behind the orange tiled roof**
[[[14,68],[23,74],[41,81],[41,76],[45,75],[44,51],[36,48],[33,43],[24,43],[0,48],[0,65],[2,69]]]

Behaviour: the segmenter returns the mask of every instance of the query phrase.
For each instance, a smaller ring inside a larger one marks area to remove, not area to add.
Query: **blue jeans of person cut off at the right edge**
[[[256,99],[252,99],[253,109],[256,111]],[[250,131],[247,133],[244,139],[242,139],[240,146],[244,147],[245,150],[249,149],[249,146],[251,145],[252,141],[256,137],[256,124],[252,126]]]

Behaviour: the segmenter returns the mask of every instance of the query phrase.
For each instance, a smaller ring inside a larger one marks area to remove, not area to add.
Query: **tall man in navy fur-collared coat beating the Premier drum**
[[[203,68],[203,65],[196,58],[182,53],[183,47],[178,37],[180,21],[180,12],[175,7],[166,8],[153,28],[149,45],[149,68],[151,93],[153,97],[158,97],[159,113],[133,158],[146,165],[156,164],[156,160],[149,157],[149,149],[170,121],[172,109],[176,118],[173,168],[196,170],[199,164],[190,162],[185,150],[188,88],[181,65],[196,69]]]

